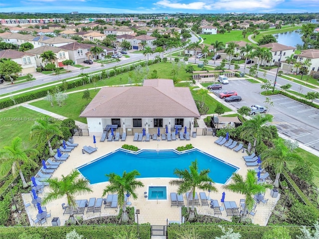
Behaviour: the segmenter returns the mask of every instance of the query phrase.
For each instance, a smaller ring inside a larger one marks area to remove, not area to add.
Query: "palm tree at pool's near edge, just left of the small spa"
[[[120,219],[120,222],[126,223],[129,221],[129,216],[126,211],[126,203],[124,201],[124,194],[130,194],[134,199],[137,199],[138,196],[135,192],[137,188],[144,187],[144,184],[136,180],[136,177],[141,175],[139,171],[133,170],[131,172],[123,172],[122,177],[115,173],[106,174],[105,176],[109,177],[109,185],[103,190],[104,197],[108,193],[117,193],[118,194],[118,204],[123,209],[123,213]]]

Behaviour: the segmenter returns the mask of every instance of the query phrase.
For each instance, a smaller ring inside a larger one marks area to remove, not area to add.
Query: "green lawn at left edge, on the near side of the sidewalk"
[[[19,136],[26,143],[29,142],[30,128],[34,120],[47,117],[24,107],[0,112],[0,148],[7,145],[15,136]]]

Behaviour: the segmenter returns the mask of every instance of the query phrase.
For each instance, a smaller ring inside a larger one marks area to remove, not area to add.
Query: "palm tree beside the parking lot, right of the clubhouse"
[[[272,138],[272,134],[265,123],[271,122],[272,116],[270,115],[256,115],[252,119],[247,120],[242,125],[240,136],[249,140],[250,137],[254,139],[254,146],[260,145],[263,138]]]

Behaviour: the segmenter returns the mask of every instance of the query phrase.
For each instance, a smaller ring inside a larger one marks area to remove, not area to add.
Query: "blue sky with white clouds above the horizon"
[[[68,13],[303,13],[318,0],[0,0],[0,12]]]

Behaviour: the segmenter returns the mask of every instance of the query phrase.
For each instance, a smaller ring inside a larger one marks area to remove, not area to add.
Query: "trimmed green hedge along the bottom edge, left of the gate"
[[[114,239],[116,235],[132,232],[138,235],[138,227],[134,226],[61,226],[61,227],[1,227],[0,238],[17,239],[22,233],[39,234],[42,239],[61,239],[75,231],[85,239]],[[140,239],[151,238],[151,226],[139,225]]]

